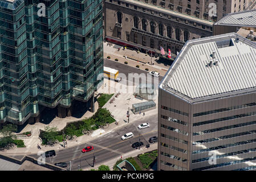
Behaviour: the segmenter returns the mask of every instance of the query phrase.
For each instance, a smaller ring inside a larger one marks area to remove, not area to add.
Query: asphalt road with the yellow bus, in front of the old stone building
[[[119,76],[121,75],[120,73],[123,73],[127,77],[127,79],[125,79],[125,80],[128,80],[129,73],[138,73],[139,75],[141,73],[144,73],[146,77],[147,77],[147,74],[149,74],[149,72],[147,72],[147,71],[144,71],[144,70],[141,70],[138,68],[134,68],[134,67],[130,67],[129,65],[118,63],[116,61],[112,61],[112,60],[108,60],[108,59],[104,59],[104,66],[113,68],[113,69],[117,69],[119,71]],[[149,78],[152,78],[152,80],[147,80],[147,82],[150,81],[155,84],[155,81],[153,81],[153,80],[156,77],[149,76]],[[158,82],[156,82],[157,87],[158,87],[158,83],[160,84],[162,78],[164,78],[164,77],[162,77],[162,76],[158,77]],[[140,82],[141,82],[141,80],[140,80]],[[126,84],[126,83],[121,81],[121,84]]]

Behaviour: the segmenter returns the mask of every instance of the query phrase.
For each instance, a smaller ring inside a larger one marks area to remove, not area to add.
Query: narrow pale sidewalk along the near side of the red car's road
[[[148,151],[152,151],[152,150],[156,150],[157,149],[157,143],[153,143],[153,144],[150,144],[150,147],[149,148],[145,148],[144,147],[141,147],[140,150],[139,149],[135,149],[131,152],[128,152],[128,153],[125,153],[122,155],[122,159],[127,159],[129,157],[135,157],[137,155],[140,155],[140,154],[144,154],[145,152],[148,152]],[[121,156],[118,156],[116,158],[113,158],[111,160],[108,160],[107,162],[104,162],[104,163],[101,163],[101,164],[97,164],[95,165],[94,167],[86,167],[86,168],[83,168],[83,171],[89,171],[91,169],[97,169],[99,168],[99,166],[101,165],[106,165],[109,167],[109,169],[112,171],[113,170],[113,166],[115,166],[117,160],[121,159]]]

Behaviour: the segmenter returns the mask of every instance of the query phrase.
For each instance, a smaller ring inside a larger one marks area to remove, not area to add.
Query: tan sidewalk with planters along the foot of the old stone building
[[[120,48],[120,51],[118,51],[118,47],[115,44],[113,46],[107,46],[107,43],[103,43],[104,45],[104,58],[107,58],[110,56],[110,60],[115,61],[115,59],[118,59],[119,63],[123,63],[127,61],[127,65],[131,67],[136,67],[136,65],[139,65],[140,68],[145,71],[146,68],[148,68],[148,72],[151,71],[157,71],[160,73],[161,76],[164,76],[166,71],[170,68],[169,65],[164,65],[162,63],[157,63],[156,58],[152,57],[152,63],[154,65],[151,65],[151,56],[147,55],[145,53],[137,53],[136,51],[132,51],[130,49]],[[116,47],[116,48],[115,48]],[[127,59],[125,59],[124,56],[127,56]],[[141,62],[143,63],[141,63]]]

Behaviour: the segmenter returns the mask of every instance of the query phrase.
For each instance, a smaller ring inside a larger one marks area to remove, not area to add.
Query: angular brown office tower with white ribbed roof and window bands
[[[159,86],[159,170],[256,168],[256,44],[190,40]]]

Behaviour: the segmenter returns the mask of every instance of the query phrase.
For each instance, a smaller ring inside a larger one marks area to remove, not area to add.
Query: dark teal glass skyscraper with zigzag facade
[[[74,99],[94,109],[102,13],[102,0],[0,0],[1,123],[36,121],[39,105],[66,116]]]

